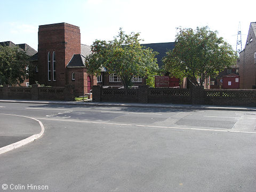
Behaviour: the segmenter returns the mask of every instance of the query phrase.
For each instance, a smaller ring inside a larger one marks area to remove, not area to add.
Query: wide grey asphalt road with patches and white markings
[[[0,114],[45,127],[0,155],[0,191],[256,190],[255,112],[0,103]]]

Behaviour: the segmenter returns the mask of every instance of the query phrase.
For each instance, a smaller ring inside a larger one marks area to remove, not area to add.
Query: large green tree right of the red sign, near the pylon
[[[171,75],[188,77],[195,86],[203,86],[209,76],[217,76],[219,71],[235,65],[236,53],[217,31],[208,27],[181,29],[175,36],[175,47],[164,57],[164,69]],[[200,78],[200,83],[195,81]]]

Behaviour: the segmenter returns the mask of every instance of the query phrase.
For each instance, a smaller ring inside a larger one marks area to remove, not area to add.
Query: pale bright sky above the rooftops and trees
[[[142,43],[174,42],[177,27],[209,26],[236,50],[255,22],[255,0],[0,0],[0,42],[27,43],[35,50],[38,26],[66,22],[80,27],[81,43],[111,40],[119,28],[140,33]]]

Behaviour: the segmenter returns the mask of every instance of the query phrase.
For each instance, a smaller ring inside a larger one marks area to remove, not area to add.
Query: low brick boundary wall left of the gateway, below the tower
[[[71,85],[65,87],[0,87],[0,99],[64,100],[74,101]]]

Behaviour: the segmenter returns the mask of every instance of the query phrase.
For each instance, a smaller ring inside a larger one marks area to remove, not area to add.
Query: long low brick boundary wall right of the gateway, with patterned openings
[[[256,90],[207,90],[149,88],[139,89],[103,89],[94,85],[92,89],[94,102],[139,102],[139,103],[184,103],[196,105],[231,105],[256,107]]]

